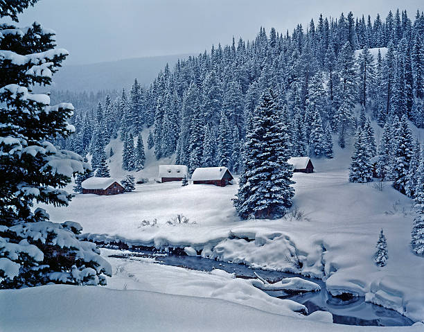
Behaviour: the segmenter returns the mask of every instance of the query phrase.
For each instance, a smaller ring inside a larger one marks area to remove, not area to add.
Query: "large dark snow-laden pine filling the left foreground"
[[[3,1],[0,16],[17,20],[35,2]],[[68,52],[54,49],[54,33],[37,23],[1,24],[0,33],[0,288],[104,285],[112,268],[94,243],[78,240],[78,222],[50,222],[44,209],[33,209],[34,201],[67,206],[64,186],[89,171],[82,157],[49,143],[74,132],[73,106],[51,106],[47,95],[31,92],[51,83]]]

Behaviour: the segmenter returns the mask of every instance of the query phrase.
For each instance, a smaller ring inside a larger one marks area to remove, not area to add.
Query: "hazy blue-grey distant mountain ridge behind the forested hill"
[[[150,85],[166,63],[173,68],[178,59],[193,54],[163,55],[96,64],[66,64],[53,76],[55,90],[98,91],[127,88],[137,78],[141,85]]]

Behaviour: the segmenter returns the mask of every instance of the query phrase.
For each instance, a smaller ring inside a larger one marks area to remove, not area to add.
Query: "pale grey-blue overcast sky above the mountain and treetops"
[[[419,8],[421,5],[421,8]],[[316,21],[319,13],[338,17],[353,11],[386,17],[406,9],[414,18],[423,0],[41,0],[20,15],[20,24],[39,21],[57,33],[69,64],[152,55],[199,53],[232,36],[251,40],[260,26],[292,29]]]

